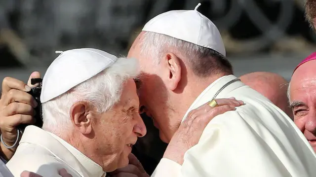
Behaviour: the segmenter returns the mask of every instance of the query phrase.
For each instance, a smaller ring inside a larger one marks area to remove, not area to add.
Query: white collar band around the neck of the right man
[[[213,83],[211,83],[208,87],[206,87],[206,89],[203,90],[203,92],[197,97],[197,99],[189,107],[186,114],[183,116],[181,122],[183,122],[186,119],[188,113],[191,110],[211,101],[212,97],[216,94],[216,92],[219,91],[225,84],[227,84],[233,79],[237,79],[237,77],[235,75],[225,75],[216,79]],[[240,86],[244,86],[244,84],[240,81],[232,83],[228,85],[227,87],[225,87],[224,90],[222,90],[216,98],[221,98],[221,95],[228,93]]]

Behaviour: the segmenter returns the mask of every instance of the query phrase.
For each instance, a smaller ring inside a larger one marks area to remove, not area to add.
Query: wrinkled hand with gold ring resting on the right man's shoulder
[[[236,110],[244,105],[235,98],[215,99],[189,112],[169,142],[163,158],[183,164],[183,157],[187,150],[196,145],[207,124],[217,115]]]

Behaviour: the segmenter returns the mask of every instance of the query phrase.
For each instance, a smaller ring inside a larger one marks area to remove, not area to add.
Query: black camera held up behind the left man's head
[[[43,126],[43,119],[41,116],[41,104],[40,104],[40,92],[41,92],[41,84],[42,84],[42,78],[32,78],[31,79],[31,84],[39,84],[38,87],[33,87],[31,91],[27,92],[28,94],[32,95],[32,97],[36,100],[38,103],[38,106],[35,108],[36,115],[34,116],[36,122],[35,126],[37,127],[42,127]],[[20,130],[24,131],[25,127],[28,126],[28,124],[21,124],[19,125]]]

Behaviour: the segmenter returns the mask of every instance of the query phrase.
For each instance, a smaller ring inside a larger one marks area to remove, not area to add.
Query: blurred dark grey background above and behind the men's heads
[[[44,73],[55,50],[94,47],[126,55],[152,17],[198,2],[221,31],[237,76],[272,71],[290,79],[314,50],[304,0],[0,0],[0,79]]]

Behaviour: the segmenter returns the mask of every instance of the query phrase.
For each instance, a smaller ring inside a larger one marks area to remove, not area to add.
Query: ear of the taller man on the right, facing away
[[[169,79],[166,86],[170,90],[175,90],[181,80],[181,64],[180,59],[173,53],[166,55],[169,69]]]

